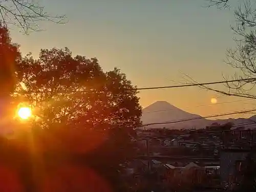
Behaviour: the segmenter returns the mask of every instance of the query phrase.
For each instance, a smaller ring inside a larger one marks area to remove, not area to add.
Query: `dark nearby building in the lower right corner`
[[[223,147],[220,152],[220,178],[222,186],[226,183],[238,183],[241,180],[246,158],[256,158],[255,131],[225,131]],[[238,179],[239,178],[239,179]]]

